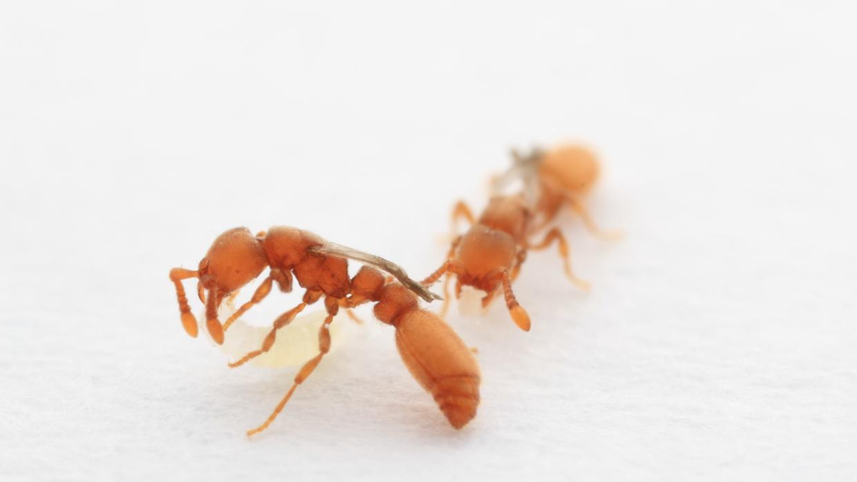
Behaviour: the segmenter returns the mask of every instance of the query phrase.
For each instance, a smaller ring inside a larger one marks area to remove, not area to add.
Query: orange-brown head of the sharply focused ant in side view
[[[229,293],[246,285],[267,267],[267,256],[246,227],[224,232],[200,262],[200,280],[207,288]]]

